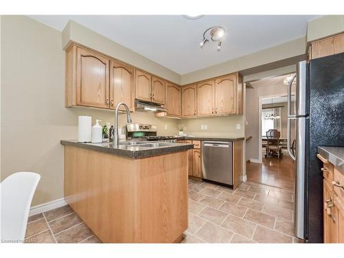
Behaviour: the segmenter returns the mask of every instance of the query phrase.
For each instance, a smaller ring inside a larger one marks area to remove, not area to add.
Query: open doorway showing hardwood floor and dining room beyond
[[[252,103],[252,98],[257,103],[251,108],[246,105],[246,125],[255,125],[246,130],[252,133],[252,141],[246,141],[246,174],[248,181],[292,190],[294,161],[287,151],[287,76],[292,74],[263,78],[251,82],[252,88],[246,89],[246,103]],[[292,109],[293,103],[294,98]],[[294,138],[293,125],[292,129]]]

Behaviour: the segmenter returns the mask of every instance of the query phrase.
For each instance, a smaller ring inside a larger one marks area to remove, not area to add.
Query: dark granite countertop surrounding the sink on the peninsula
[[[159,147],[140,147],[140,146],[124,146],[120,145],[117,148],[112,147],[112,142],[102,143],[81,143],[76,140],[61,140],[61,144],[80,147],[84,149],[91,149],[93,151],[101,151],[104,153],[119,155],[125,158],[149,158],[157,155],[164,155],[169,153],[176,153],[180,151],[187,151],[193,149],[193,144],[175,143],[175,142],[142,142],[142,144],[160,144]]]

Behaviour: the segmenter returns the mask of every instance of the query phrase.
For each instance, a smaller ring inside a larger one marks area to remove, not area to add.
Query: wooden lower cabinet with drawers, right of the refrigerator
[[[330,174],[333,165],[320,154],[318,158],[323,162],[323,172]],[[340,193],[344,171],[334,166],[333,173],[333,178],[324,176],[323,180],[323,239],[324,243],[344,243],[344,198]]]

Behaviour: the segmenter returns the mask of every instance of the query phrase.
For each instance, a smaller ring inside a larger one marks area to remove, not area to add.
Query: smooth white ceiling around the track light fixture
[[[205,15],[188,20],[182,15],[33,15],[41,23],[63,30],[72,19],[85,27],[167,67],[187,74],[210,65],[264,50],[305,36],[314,15]],[[199,44],[204,30],[226,29],[221,52],[216,44]]]

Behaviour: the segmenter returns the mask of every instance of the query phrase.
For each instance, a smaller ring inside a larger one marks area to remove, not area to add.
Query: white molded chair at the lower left
[[[37,173],[18,172],[1,182],[1,243],[24,241],[32,197],[40,179]]]

